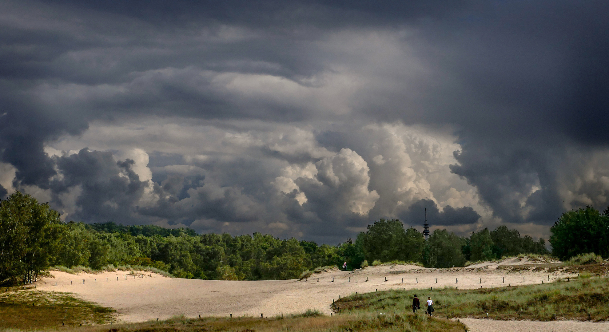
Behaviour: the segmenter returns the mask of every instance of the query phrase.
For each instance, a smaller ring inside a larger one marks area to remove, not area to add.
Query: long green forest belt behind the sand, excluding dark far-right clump
[[[587,252],[607,256],[609,236],[605,242],[574,238],[581,235],[582,226],[594,232],[590,237],[609,235],[608,211],[595,211],[569,211],[555,223],[550,243],[558,257]],[[261,233],[199,235],[189,228],[64,223],[48,203],[21,192],[0,201],[0,245],[0,283],[30,283],[41,270],[56,265],[101,269],[128,264],[155,267],[180,278],[269,280],[297,278],[315,267],[342,267],[343,261],[348,270],[375,261],[450,267],[519,253],[549,253],[544,239],[533,241],[505,226],[468,237],[435,230],[425,241],[420,231],[404,229],[397,219],[375,221],[354,241],[349,238],[338,245]]]

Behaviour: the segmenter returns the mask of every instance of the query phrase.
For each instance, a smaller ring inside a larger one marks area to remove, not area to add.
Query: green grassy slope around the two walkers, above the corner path
[[[403,313],[412,311],[412,297],[418,295],[423,314],[427,297],[434,300],[435,315],[488,317],[492,319],[608,320],[609,279],[580,278],[571,281],[488,289],[411,289],[352,295],[335,302],[336,311]],[[590,316],[588,316],[590,314]],[[554,316],[555,315],[555,316]]]

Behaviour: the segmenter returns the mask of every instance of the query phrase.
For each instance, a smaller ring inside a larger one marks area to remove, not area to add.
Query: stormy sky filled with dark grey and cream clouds
[[[607,1],[0,1],[0,197],[336,244],[609,205]]]

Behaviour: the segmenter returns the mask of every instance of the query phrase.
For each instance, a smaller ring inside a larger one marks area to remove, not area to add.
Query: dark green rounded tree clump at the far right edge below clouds
[[[609,257],[609,207],[602,214],[592,207],[565,212],[550,231],[552,254],[561,260],[590,252]]]

